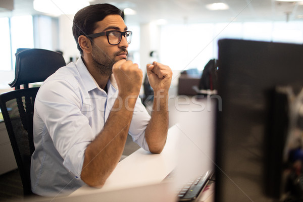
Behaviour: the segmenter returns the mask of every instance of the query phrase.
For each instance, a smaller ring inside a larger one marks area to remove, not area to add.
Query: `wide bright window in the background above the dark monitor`
[[[218,40],[234,38],[303,43],[303,22],[231,22],[164,25],[161,32],[161,62],[173,70],[203,70],[218,57]]]

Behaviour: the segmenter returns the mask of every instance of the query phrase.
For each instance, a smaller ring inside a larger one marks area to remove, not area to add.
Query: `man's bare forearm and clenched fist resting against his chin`
[[[85,150],[81,179],[89,186],[102,186],[117,166],[142,83],[142,70],[132,61],[118,61],[113,66],[113,74],[119,98],[115,100],[103,129]]]

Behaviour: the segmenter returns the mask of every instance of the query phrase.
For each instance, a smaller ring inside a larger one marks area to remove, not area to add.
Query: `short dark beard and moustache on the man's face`
[[[102,48],[92,45],[92,59],[93,59],[93,67],[94,69],[101,75],[110,76],[113,74],[113,65],[119,60],[115,60],[116,56],[121,54],[122,52],[127,52],[126,48],[120,48],[119,52],[114,53],[113,58],[103,51]]]

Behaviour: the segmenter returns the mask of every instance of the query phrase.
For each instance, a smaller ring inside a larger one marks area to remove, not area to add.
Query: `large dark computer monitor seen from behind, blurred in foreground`
[[[303,86],[303,46],[235,39],[218,45],[215,201],[283,201],[289,191],[301,197],[292,178],[302,180],[303,136],[291,139],[289,131],[290,95],[300,101]],[[291,141],[297,150],[287,147]]]

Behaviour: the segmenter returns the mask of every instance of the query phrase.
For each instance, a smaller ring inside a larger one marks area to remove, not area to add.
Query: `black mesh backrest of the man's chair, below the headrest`
[[[33,143],[34,100],[38,87],[11,91],[0,95],[0,108],[10,136],[20,172],[24,194],[31,193],[30,162]]]

